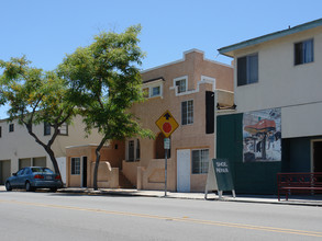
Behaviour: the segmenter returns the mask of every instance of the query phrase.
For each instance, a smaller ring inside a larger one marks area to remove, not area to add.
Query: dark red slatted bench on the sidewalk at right
[[[277,173],[277,194],[288,196],[295,193],[322,193],[322,172]]]

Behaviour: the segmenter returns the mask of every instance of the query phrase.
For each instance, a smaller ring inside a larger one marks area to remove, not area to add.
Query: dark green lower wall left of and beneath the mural
[[[276,194],[281,162],[243,162],[243,114],[218,116],[216,158],[229,159],[236,194]]]

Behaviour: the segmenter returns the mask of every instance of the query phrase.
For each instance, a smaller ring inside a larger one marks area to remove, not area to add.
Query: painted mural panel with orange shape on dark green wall
[[[281,160],[280,116],[280,108],[244,113],[244,162],[269,162]]]

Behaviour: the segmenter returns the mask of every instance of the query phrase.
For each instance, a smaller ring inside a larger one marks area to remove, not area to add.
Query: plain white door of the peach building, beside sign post
[[[177,150],[177,192],[190,192],[190,149]]]

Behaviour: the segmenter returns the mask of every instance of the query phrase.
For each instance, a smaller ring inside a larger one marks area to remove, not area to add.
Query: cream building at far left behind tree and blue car
[[[33,130],[43,141],[48,141],[53,130],[44,123],[33,126]],[[76,117],[71,125],[64,125],[60,135],[53,145],[53,151],[57,159],[62,179],[66,183],[66,147],[71,145],[97,144],[99,135],[93,131],[88,138],[85,137],[84,124],[80,117]],[[24,126],[16,120],[0,120],[0,184],[19,169],[29,165],[53,168],[49,156],[43,147],[35,142],[27,134]]]

